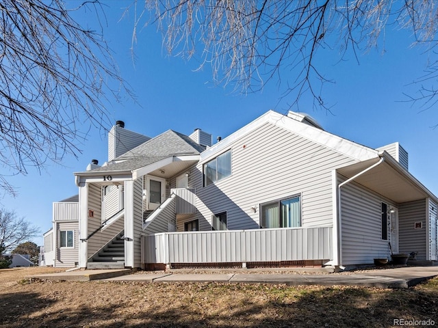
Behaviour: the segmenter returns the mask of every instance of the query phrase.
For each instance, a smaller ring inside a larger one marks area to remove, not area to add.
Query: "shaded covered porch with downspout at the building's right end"
[[[437,200],[387,152],[336,170],[337,264],[413,254],[437,257]]]

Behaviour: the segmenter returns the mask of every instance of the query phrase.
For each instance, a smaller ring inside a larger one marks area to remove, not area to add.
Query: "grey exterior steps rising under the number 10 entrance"
[[[87,263],[87,269],[125,269],[124,231],[107,243],[103,249],[92,256]]]

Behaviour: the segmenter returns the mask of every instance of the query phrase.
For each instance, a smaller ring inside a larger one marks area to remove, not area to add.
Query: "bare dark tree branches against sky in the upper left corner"
[[[109,124],[103,102],[117,98],[123,81],[103,38],[62,0],[0,2],[0,188],[14,193],[8,173],[26,174],[47,161],[77,156],[87,127]],[[126,90],[127,91],[127,90]],[[84,128],[85,126],[85,128]]]

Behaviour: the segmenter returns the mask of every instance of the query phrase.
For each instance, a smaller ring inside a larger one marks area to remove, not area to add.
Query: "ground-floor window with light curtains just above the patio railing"
[[[260,228],[296,228],[300,226],[300,196],[261,205]]]

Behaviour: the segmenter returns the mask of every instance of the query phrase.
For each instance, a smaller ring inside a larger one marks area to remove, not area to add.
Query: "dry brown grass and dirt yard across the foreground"
[[[437,278],[407,290],[24,280],[59,271],[0,270],[0,327],[438,326]]]

